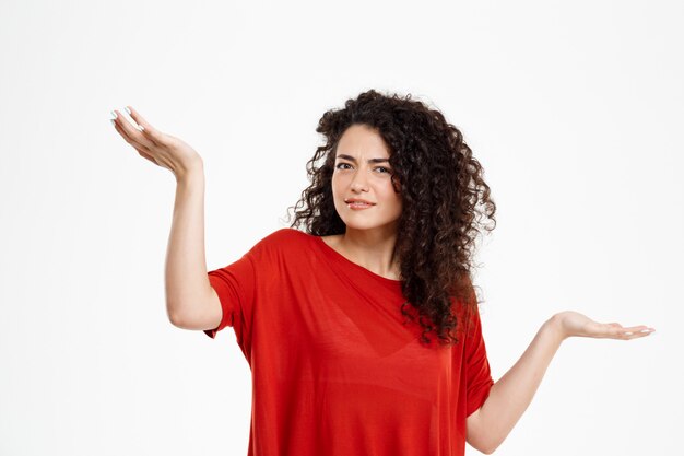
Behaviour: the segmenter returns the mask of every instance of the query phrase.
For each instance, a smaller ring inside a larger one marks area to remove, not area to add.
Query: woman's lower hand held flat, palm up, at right
[[[598,323],[574,311],[565,311],[552,317],[564,339],[568,337],[594,337],[630,340],[648,336],[656,329],[648,326],[623,327],[618,323]]]

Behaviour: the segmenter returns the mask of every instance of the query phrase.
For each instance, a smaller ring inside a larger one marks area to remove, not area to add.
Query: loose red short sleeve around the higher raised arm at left
[[[241,344],[245,331],[246,315],[251,312],[255,288],[255,268],[250,253],[245,254],[237,261],[220,269],[209,271],[209,283],[216,291],[223,316],[214,329],[207,329],[204,334],[212,339],[216,332],[232,326],[238,342]]]

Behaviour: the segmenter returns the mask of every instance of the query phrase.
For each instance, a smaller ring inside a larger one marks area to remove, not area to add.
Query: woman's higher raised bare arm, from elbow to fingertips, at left
[[[165,265],[168,318],[185,329],[215,328],[221,323],[222,309],[207,276],[202,159],[182,140],[155,129],[132,107],[128,106],[127,112],[139,128],[114,110],[116,130],[142,157],[169,169],[176,177]]]

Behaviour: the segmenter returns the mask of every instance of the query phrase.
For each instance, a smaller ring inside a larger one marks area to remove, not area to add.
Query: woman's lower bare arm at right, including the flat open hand
[[[653,332],[653,328],[624,328],[617,323],[600,324],[567,311],[546,320],[518,362],[492,385],[484,405],[468,417],[467,441],[484,454],[492,454],[516,425],[546,372],[568,337],[630,340]]]

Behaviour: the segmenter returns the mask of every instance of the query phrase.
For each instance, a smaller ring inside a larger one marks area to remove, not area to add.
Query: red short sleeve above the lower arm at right
[[[471,313],[470,330],[464,341],[465,361],[465,417],[477,410],[490,396],[490,389],[494,385],[487,351],[482,337],[480,312]]]

